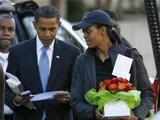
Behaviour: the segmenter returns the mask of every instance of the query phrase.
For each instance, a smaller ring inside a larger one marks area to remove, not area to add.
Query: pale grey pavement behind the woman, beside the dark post
[[[127,40],[143,55],[145,66],[149,76],[156,74],[151,40],[148,32],[148,24],[145,16],[132,15],[119,21],[121,32]]]

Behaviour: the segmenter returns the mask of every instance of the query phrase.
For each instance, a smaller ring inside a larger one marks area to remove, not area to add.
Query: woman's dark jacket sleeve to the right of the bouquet
[[[130,55],[134,59],[131,68],[131,82],[141,91],[141,104],[134,110],[134,113],[143,120],[153,107],[151,83],[142,56],[136,49],[133,49]]]

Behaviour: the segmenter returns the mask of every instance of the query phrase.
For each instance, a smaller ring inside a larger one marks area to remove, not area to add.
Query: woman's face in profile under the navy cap
[[[97,28],[96,25],[90,26],[87,29],[83,29],[83,33],[88,48],[99,48],[99,46],[102,44],[102,30]]]

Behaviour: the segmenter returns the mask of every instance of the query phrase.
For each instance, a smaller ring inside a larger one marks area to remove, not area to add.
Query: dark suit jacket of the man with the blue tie
[[[52,65],[48,79],[47,91],[70,90],[72,66],[79,55],[79,50],[62,41],[56,40]],[[59,57],[57,57],[59,56]],[[32,94],[42,92],[39,68],[36,55],[36,40],[21,43],[10,49],[7,72],[16,75],[25,90]],[[41,120],[45,110],[48,120],[70,120],[70,106],[57,101],[35,103],[37,110],[15,107],[12,103],[14,94],[6,90],[6,102],[15,110],[16,120]]]

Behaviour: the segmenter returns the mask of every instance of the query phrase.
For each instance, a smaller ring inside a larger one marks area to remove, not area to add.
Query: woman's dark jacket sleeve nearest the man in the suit
[[[80,58],[80,57],[79,57]],[[71,85],[71,96],[72,96],[72,106],[73,110],[78,117],[78,120],[94,120],[94,106],[91,106],[86,103],[84,100],[85,94],[85,86],[84,86],[84,74],[85,68],[82,59],[76,61],[74,70],[73,70],[73,77],[72,77],[72,85]]]

